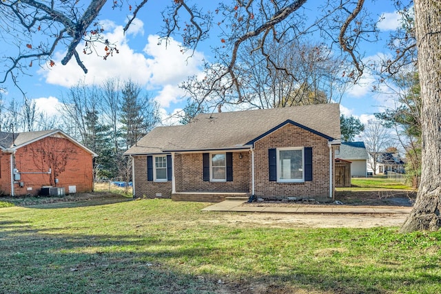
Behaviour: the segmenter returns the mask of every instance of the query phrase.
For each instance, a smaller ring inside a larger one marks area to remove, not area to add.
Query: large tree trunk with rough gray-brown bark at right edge
[[[422,97],[422,169],[415,205],[401,231],[441,227],[441,1],[415,0]]]

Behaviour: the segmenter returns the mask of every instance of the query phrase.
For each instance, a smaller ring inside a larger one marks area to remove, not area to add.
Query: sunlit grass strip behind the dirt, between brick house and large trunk
[[[351,178],[351,187],[337,188],[337,191],[368,191],[384,189],[412,190],[412,187],[394,180],[389,180],[388,178]]]

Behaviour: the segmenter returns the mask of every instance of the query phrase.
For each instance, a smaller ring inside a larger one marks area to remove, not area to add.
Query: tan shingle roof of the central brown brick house
[[[154,128],[125,154],[249,148],[287,123],[327,140],[340,139],[339,105],[307,105],[199,114],[187,125]]]

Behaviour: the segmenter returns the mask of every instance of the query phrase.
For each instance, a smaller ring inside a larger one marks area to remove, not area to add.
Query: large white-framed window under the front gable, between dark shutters
[[[277,181],[304,182],[304,154],[303,148],[277,149]]]

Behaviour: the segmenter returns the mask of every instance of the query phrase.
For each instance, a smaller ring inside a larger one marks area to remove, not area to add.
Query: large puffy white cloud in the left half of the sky
[[[185,81],[187,76],[201,71],[203,54],[194,52],[194,55],[188,59],[191,53],[183,54],[181,44],[173,39],[170,39],[167,46],[165,42],[158,43],[157,35],[147,36],[147,41],[141,45],[139,40],[127,39],[127,35],[143,34],[143,22],[139,19],[130,27],[132,29],[127,34],[123,33],[121,25],[115,25],[112,21],[101,21],[101,23],[105,27],[105,39],[116,43],[119,54],[114,53],[107,60],[103,60],[96,54],[81,53],[81,60],[88,68],[88,74],[84,74],[74,58],[67,65],[61,65],[64,53],[58,52],[54,58],[54,67],[39,72],[46,83],[71,87],[80,80],[86,85],[101,85],[109,77],[118,77],[123,81],[130,78],[141,87],[158,92],[156,101],[161,106],[168,107],[183,94],[178,89],[178,84]],[[139,52],[136,51],[136,45],[139,47]],[[97,45],[97,52],[104,53],[104,47],[105,45]],[[79,48],[81,50],[81,45]]]

